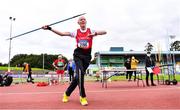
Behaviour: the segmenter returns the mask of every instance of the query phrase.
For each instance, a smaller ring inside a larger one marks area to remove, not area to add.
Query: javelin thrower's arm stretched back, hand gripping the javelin
[[[50,31],[52,31],[52,32],[54,32],[54,33],[56,33],[57,35],[60,35],[60,36],[71,36],[70,32],[60,32],[60,31],[57,31],[55,29],[52,29],[48,25],[43,26],[42,29],[50,30]]]

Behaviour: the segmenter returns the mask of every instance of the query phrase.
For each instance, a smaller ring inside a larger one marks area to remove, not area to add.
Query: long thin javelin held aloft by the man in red
[[[86,14],[86,13],[82,13],[82,14],[79,14],[79,15],[76,15],[76,16],[73,16],[73,17],[70,17],[70,18],[67,18],[67,19],[61,20],[61,21],[57,21],[57,22],[55,22],[55,23],[49,24],[48,26],[52,26],[52,25],[55,25],[55,24],[58,24],[58,23],[61,23],[61,22],[67,21],[67,20],[70,20],[70,19],[76,18],[76,17],[78,17],[78,16],[82,16],[82,15],[84,15],[84,14]],[[41,27],[40,27],[40,28],[36,28],[36,29],[34,29],[34,30],[31,30],[31,31],[28,31],[28,32],[25,32],[25,33],[22,33],[22,34],[19,34],[19,35],[16,35],[16,36],[11,37],[11,38],[8,38],[8,39],[6,39],[6,40],[12,40],[12,39],[14,39],[14,38],[17,38],[17,37],[23,36],[23,35],[25,35],[25,34],[29,34],[29,33],[31,33],[31,32],[38,31],[38,30],[40,30],[40,29],[42,29],[42,28],[41,28]]]

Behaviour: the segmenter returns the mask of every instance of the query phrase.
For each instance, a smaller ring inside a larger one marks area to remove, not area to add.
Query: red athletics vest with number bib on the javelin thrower
[[[88,36],[91,34],[91,30],[87,28],[86,32],[81,32],[80,29],[77,30],[76,35],[76,43],[77,47],[82,49],[90,49],[92,48],[92,36]]]

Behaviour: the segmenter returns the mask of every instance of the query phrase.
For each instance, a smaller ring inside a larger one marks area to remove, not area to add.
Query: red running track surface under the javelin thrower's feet
[[[180,109],[180,85],[138,87],[133,81],[114,81],[102,88],[100,82],[85,82],[88,106],[80,105],[77,88],[68,103],[61,102],[68,85],[0,87],[0,109]]]

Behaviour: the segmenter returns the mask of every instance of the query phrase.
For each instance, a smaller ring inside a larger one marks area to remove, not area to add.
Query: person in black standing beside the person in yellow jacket
[[[131,58],[127,58],[127,61],[124,63],[124,66],[126,67],[127,70],[131,69]],[[132,71],[127,71],[126,79],[128,79],[128,81],[131,81],[131,77],[132,77]]]

